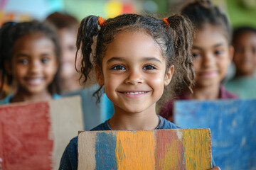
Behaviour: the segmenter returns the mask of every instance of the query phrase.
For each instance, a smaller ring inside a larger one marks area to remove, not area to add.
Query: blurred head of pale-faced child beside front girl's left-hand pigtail
[[[51,13],[46,21],[58,30],[60,40],[60,87],[62,94],[82,89],[80,74],[75,70],[75,40],[78,34],[78,20],[65,13]]]

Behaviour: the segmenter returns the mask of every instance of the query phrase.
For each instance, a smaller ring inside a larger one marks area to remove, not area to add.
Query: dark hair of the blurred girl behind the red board
[[[57,60],[60,60],[60,45],[55,29],[47,23],[41,23],[39,21],[28,21],[23,23],[8,22],[0,29],[0,72],[1,72],[1,89],[3,89],[4,81],[7,80],[7,84],[11,85],[14,77],[12,74],[6,72],[6,62],[11,63],[12,56],[14,54],[15,42],[25,35],[31,33],[41,33],[55,45],[55,55]],[[50,94],[59,94],[60,88],[58,85],[58,78],[55,74],[53,82],[48,86]]]

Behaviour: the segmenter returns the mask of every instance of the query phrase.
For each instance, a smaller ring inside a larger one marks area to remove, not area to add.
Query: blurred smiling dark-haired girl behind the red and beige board
[[[38,21],[5,23],[0,36],[1,77],[16,85],[14,94],[0,104],[60,98],[56,77],[60,47],[55,30]]]

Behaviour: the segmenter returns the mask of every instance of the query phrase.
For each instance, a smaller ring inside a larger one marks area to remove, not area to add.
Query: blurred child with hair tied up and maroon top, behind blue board
[[[160,115],[174,122],[175,100],[215,100],[238,98],[220,85],[233,58],[230,45],[231,28],[227,17],[210,1],[196,1],[181,11],[196,27],[193,38],[193,66],[196,72],[196,84],[193,94],[188,89],[180,91],[175,99],[164,104]]]

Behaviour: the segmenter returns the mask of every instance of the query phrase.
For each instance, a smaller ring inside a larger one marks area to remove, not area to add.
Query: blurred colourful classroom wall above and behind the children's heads
[[[189,0],[193,1],[193,0]],[[28,21],[31,18],[41,20],[53,11],[66,11],[79,20],[88,15],[105,18],[124,12],[158,13],[166,16],[178,11],[188,0],[1,0],[0,25],[3,21]],[[243,24],[256,27],[255,0],[214,0],[227,11],[233,26]]]

